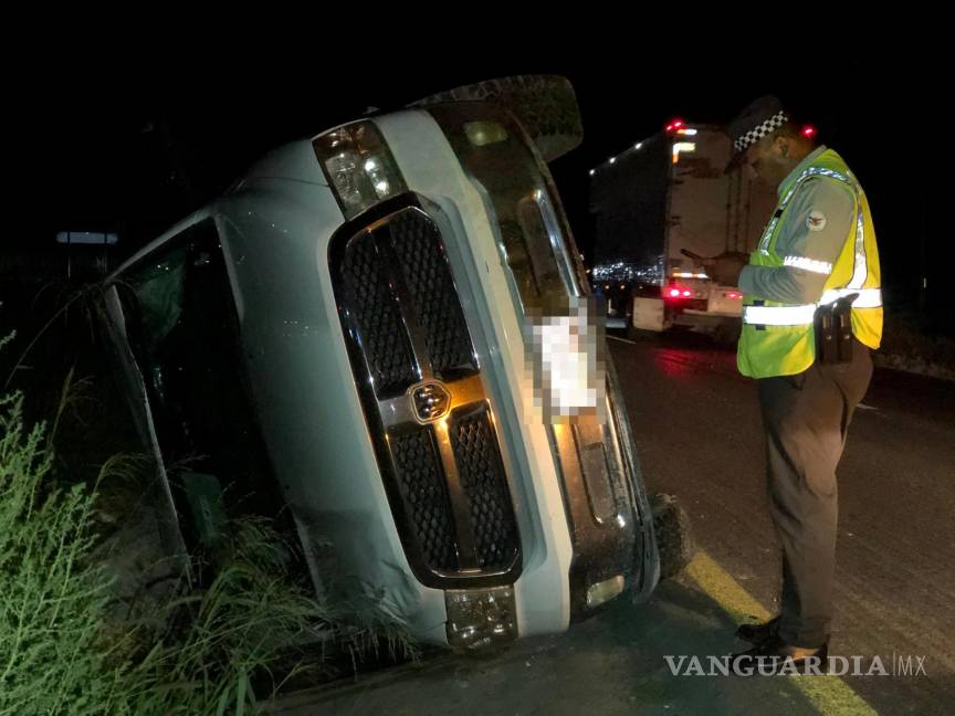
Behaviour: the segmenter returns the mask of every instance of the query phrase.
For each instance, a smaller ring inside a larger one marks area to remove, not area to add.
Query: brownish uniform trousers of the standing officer
[[[779,638],[790,645],[816,647],[829,638],[839,513],[836,467],[871,378],[869,348],[853,339],[851,362],[814,364],[796,376],[757,381],[770,513],[783,545]]]

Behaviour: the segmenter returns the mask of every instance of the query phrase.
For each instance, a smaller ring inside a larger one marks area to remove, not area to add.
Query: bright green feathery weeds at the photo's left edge
[[[98,643],[109,579],[85,560],[94,493],[54,486],[45,425],[0,398],[0,714],[99,714],[118,674]]]

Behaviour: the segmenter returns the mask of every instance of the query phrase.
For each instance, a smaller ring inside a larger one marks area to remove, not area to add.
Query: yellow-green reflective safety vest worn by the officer
[[[809,179],[842,182],[856,198],[856,221],[831,267],[825,262],[801,256],[783,257],[776,253],[776,240],[786,223],[787,208]],[[882,291],[872,217],[856,177],[831,149],[815,158],[785,189],[759,244],[749,256],[749,265],[789,265],[828,273],[829,277],[822,296],[815,304],[793,305],[744,294],[743,331],[736,354],[736,364],[744,376],[791,376],[809,368],[816,359],[812,327],[816,309],[853,293],[859,297],[852,303],[852,334],[870,348],[879,347],[882,340]]]

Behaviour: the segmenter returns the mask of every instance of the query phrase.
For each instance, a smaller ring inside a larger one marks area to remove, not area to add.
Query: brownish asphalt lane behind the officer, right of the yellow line
[[[700,545],[775,612],[779,558],[753,381],[701,336],[611,346],[648,485],[675,494]],[[927,672],[847,683],[880,712],[927,713],[947,693],[952,713],[955,383],[877,370],[838,475],[832,650],[923,655]]]

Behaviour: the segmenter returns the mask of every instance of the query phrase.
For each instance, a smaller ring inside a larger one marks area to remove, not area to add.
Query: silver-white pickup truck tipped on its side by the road
[[[335,127],[113,274],[170,545],[201,537],[203,495],[284,510],[306,555],[330,545],[458,647],[650,594],[633,438],[545,164],[576,112],[566,81],[522,77]]]

